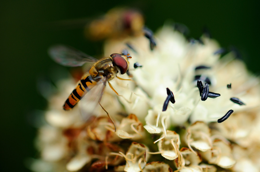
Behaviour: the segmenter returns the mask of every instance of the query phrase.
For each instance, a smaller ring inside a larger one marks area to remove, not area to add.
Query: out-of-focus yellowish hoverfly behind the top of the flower
[[[86,37],[92,40],[121,38],[128,35],[141,35],[144,17],[136,9],[113,8],[105,15],[85,26]]]

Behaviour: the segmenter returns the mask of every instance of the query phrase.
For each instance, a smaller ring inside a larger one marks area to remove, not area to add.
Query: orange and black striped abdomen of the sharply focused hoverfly
[[[96,83],[97,82],[94,81],[90,75],[83,77],[79,81],[77,87],[69,95],[68,99],[63,105],[63,109],[72,109],[81,100],[81,98],[96,85]]]

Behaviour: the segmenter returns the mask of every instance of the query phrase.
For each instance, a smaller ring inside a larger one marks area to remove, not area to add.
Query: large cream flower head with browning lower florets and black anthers
[[[115,78],[110,83],[120,96],[107,87],[100,102],[114,124],[100,106],[87,120],[79,105],[64,111],[76,82],[57,81],[33,170],[259,171],[260,80],[241,60],[232,52],[222,55],[206,35],[189,41],[170,25],[150,37],[107,38],[103,52],[125,49],[132,56],[129,75],[118,76],[132,81]],[[166,103],[166,88],[174,104]],[[217,123],[231,109],[230,117]]]

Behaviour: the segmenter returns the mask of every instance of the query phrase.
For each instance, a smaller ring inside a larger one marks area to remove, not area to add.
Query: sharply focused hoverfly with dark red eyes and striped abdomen
[[[125,74],[127,72],[129,68],[129,62],[127,59],[132,58],[129,54],[121,55],[114,53],[111,54],[108,58],[97,60],[96,58],[89,56],[79,50],[64,45],[53,46],[49,49],[48,53],[55,62],[63,66],[76,67],[82,66],[83,64],[88,62],[94,63],[89,68],[88,72],[82,76],[76,88],[72,91],[72,93],[65,101],[63,105],[64,110],[71,110],[89,91],[92,92],[91,95],[86,95],[89,99],[89,102],[94,101],[100,104],[107,82],[112,90],[117,95],[119,95],[113,89],[109,81],[115,77],[121,80],[130,80],[116,76],[119,72],[121,74]],[[113,122],[108,112],[103,108],[101,104],[100,106]]]

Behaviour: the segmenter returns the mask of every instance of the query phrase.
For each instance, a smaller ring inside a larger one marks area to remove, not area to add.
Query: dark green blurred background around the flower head
[[[101,43],[83,37],[83,28],[59,28],[50,23],[93,18],[115,6],[140,9],[146,25],[155,31],[165,20],[183,23],[198,38],[206,26],[221,46],[234,45],[248,68],[259,74],[259,6],[248,1],[1,1],[1,171],[29,171],[28,157],[38,157],[31,125],[34,110],[46,100],[36,88],[37,78],[51,76],[58,65],[47,48],[62,43],[90,55],[101,54]]]

